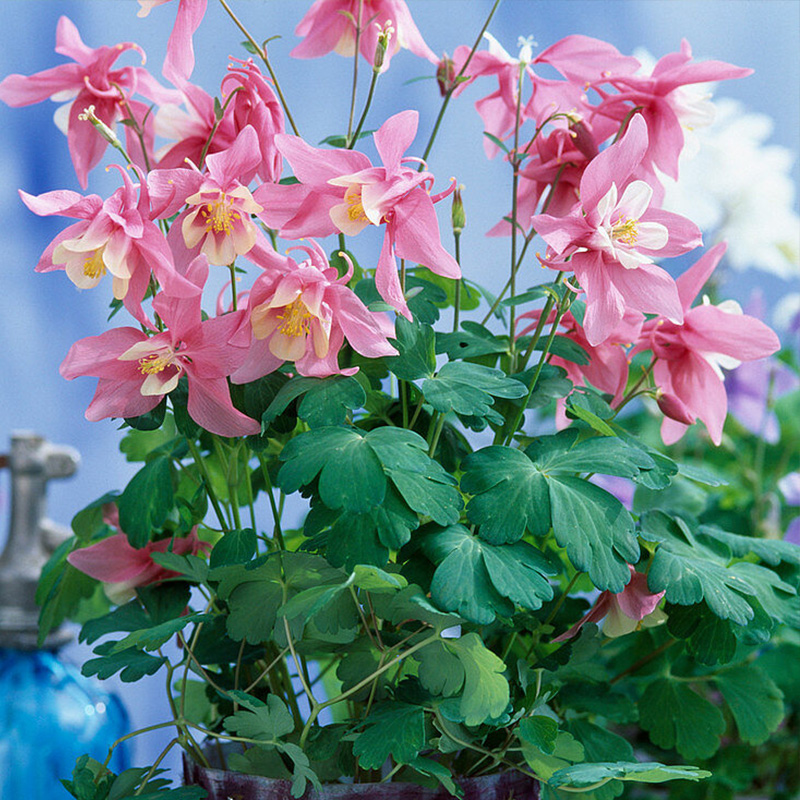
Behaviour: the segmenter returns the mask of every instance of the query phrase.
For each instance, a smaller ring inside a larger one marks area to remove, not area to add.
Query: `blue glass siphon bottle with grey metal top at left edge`
[[[12,436],[0,466],[11,470],[11,524],[0,556],[0,798],[53,800],[68,796],[75,760],[105,761],[130,730],[120,700],[59,659],[70,637],[54,632],[36,648],[36,584],[49,551],[68,535],[44,518],[47,481],[71,475],[78,455],[29,433]],[[128,766],[124,744],[109,763]]]

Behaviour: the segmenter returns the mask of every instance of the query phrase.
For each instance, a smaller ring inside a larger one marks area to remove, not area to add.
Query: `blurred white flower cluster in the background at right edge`
[[[698,151],[681,155],[680,182],[663,178],[664,208],[727,241],[734,269],[800,277],[800,217],[789,174],[795,154],[765,144],[774,127],[770,117],[727,98],[715,105],[714,122],[695,132]]]

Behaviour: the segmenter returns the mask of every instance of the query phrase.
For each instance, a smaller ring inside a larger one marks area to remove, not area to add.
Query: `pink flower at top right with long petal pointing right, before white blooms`
[[[687,93],[684,87],[744,78],[752,72],[723,61],[692,63],[692,48],[683,39],[680,52],[669,53],[660,59],[650,75],[611,75],[600,80],[598,83],[611,83],[618,91],[608,94],[599,86],[594,87],[603,97],[598,113],[622,121],[632,109],[638,109],[650,134],[643,166],[652,172],[652,165],[655,165],[677,180],[684,129],[694,125],[698,112],[702,115],[709,111],[713,113],[713,108],[698,107],[697,97]]]

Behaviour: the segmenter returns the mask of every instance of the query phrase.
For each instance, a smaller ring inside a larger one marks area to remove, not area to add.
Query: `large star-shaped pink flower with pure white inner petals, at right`
[[[626,308],[676,324],[683,319],[675,281],[653,258],[685,253],[702,237],[688,219],[653,208],[652,188],[634,179],[647,141],[647,125],[636,115],[620,141],[586,167],[580,202],[569,214],[531,219],[549,245],[545,264],[574,270],[586,292],[584,330],[592,345],[611,335]]]

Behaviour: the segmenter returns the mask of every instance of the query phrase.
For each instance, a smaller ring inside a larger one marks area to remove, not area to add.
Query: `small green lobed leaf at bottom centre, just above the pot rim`
[[[388,702],[372,709],[353,744],[353,753],[364,769],[380,769],[390,756],[400,764],[413,761],[425,741],[422,707]]]

